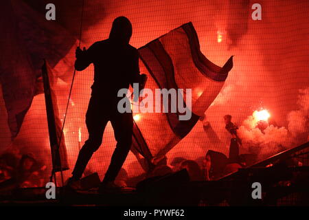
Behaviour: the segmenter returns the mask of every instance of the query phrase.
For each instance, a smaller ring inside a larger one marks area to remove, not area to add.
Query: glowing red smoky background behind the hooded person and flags
[[[56,21],[76,36],[78,32],[82,0],[76,1],[27,1],[32,9],[45,19],[45,4],[56,5]],[[126,16],[133,23],[130,43],[141,47],[149,41],[192,21],[201,51],[210,61],[222,66],[234,55],[233,69],[225,86],[211,107],[206,119],[199,121],[194,129],[168,153],[168,162],[174,157],[197,159],[207,150],[227,154],[230,135],[225,130],[223,116],[230,114],[240,126],[244,140],[241,153],[255,144],[260,159],[308,140],[309,80],[308,80],[308,1],[258,1],[262,5],[262,21],[251,19],[251,5],[255,1],[90,1],[84,0],[84,23],[82,47],[106,39],[115,17]],[[35,33],[34,33],[35,34]],[[55,34],[58,33],[49,33]],[[74,40],[75,41],[75,40]],[[58,81],[58,105],[63,118],[69,94],[76,45],[54,71],[64,80]],[[51,48],[50,50],[57,50]],[[84,115],[90,97],[93,67],[76,74],[67,122],[65,140],[72,168],[78,155],[79,136],[81,144],[87,140]],[[198,88],[192,92],[198,93]],[[253,111],[267,109],[277,126],[270,126],[261,133],[251,126]],[[143,115],[139,119],[142,123]],[[207,132],[203,124],[209,122],[214,132]],[[10,141],[6,109],[0,96],[0,150],[11,145],[23,152],[31,152],[50,169],[50,148],[43,94],[35,96],[19,135]],[[80,131],[80,132],[79,132]],[[146,131],[147,132],[147,131]],[[151,128],[148,130],[151,134]],[[80,133],[80,135],[79,135]],[[145,134],[146,135],[146,134]],[[155,134],[154,134],[155,135]],[[159,138],[159,137],[156,137]],[[247,144],[246,144],[247,143]],[[89,168],[99,172],[106,170],[115,139],[108,123],[104,141]],[[135,156],[129,154],[124,164],[128,175],[142,172]],[[47,172],[48,173],[48,172]],[[68,176],[70,171],[65,171]]]

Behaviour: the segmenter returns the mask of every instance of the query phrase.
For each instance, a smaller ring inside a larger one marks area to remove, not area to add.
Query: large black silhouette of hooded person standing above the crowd
[[[89,139],[80,150],[68,185],[82,177],[89,159],[102,143],[107,122],[111,121],[117,145],[101,188],[117,188],[114,181],[130,151],[133,134],[133,115],[119,113],[117,103],[122,97],[117,97],[117,92],[128,89],[130,84],[140,83],[141,79],[139,54],[129,44],[131,35],[130,21],[126,17],[117,17],[108,39],[93,43],[88,50],[79,47],[76,50],[76,70],[82,71],[93,63],[94,83],[86,114]]]

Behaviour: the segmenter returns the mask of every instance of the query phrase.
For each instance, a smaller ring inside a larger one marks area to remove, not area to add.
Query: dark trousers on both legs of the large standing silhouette
[[[80,179],[89,159],[102,144],[104,129],[108,121],[114,129],[117,145],[111,157],[111,164],[105,173],[103,182],[114,181],[122,168],[130,151],[133,133],[132,113],[119,113],[117,101],[106,101],[102,98],[91,97],[86,114],[86,124],[89,133],[88,140],[80,149],[78,159],[73,170],[73,178]]]

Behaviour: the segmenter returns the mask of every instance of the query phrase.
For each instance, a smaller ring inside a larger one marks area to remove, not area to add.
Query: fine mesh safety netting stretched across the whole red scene
[[[46,19],[47,3],[55,5],[55,21]],[[183,89],[182,102],[192,101],[189,120],[179,120],[179,112],[133,113],[135,135],[119,174],[122,183],[134,185],[149,175],[183,167],[199,170],[201,177],[193,178],[209,179],[203,172],[208,151],[231,159],[231,146],[236,144],[237,154],[242,155],[237,163],[246,166],[246,162],[253,164],[308,142],[309,3],[260,1],[261,20],[253,19],[254,3],[1,3],[0,181],[19,173],[27,173],[21,187],[45,186],[49,181],[52,157],[43,59],[54,77],[52,89],[61,126],[65,120],[62,138],[69,169],[63,175],[65,179],[71,175],[78,151],[88,138],[85,114],[93,83],[90,65],[76,72],[69,96],[75,50],[78,45],[89,48],[108,38],[119,16],[133,25],[130,44],[139,49],[140,72],[148,76],[146,88],[153,91],[153,98],[155,89]],[[159,103],[153,100],[148,105],[155,109]],[[108,122],[102,145],[84,175],[98,172],[102,178],[115,144]]]

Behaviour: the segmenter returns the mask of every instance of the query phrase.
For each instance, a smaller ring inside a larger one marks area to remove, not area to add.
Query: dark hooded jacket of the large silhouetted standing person
[[[76,70],[94,65],[94,83],[91,96],[104,100],[117,99],[119,89],[128,89],[139,80],[139,55],[129,44],[132,25],[126,17],[113,21],[109,38],[93,43],[76,59]]]

